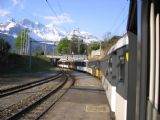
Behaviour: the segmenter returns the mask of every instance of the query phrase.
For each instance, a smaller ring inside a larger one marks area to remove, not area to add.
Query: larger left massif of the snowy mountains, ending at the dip
[[[37,41],[59,41],[64,38],[66,33],[54,25],[43,25],[41,23],[34,23],[28,19],[22,21],[8,20],[5,23],[0,23],[0,33],[14,38],[23,30],[27,28],[29,36]]]

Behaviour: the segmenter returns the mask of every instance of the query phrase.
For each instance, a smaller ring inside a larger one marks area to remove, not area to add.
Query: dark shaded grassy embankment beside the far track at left
[[[54,70],[48,58],[44,56],[32,56],[31,71],[29,56],[8,54],[0,59],[0,74],[50,72]]]

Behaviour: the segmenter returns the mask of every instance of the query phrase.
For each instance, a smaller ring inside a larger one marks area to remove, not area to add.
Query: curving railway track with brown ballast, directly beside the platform
[[[38,94],[37,99],[29,102],[28,104],[17,107],[16,111],[6,110],[4,116],[0,116],[2,120],[37,120],[43,114],[47,112],[55,103],[60,99],[60,97],[66,92],[73,81],[68,78],[68,76],[61,76],[58,84],[52,87],[46,88],[45,92]],[[8,112],[8,113],[7,113]]]

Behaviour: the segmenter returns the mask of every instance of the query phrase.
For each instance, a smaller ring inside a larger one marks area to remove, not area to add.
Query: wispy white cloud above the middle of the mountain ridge
[[[64,14],[61,14],[59,16],[44,16],[43,17],[44,19],[47,19],[47,20],[53,20],[53,23],[54,24],[64,24],[64,23],[72,23],[74,22],[71,17],[69,16],[69,14],[67,13],[64,13]]]

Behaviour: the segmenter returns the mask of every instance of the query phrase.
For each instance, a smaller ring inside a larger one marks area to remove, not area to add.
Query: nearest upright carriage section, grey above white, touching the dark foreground
[[[127,115],[127,81],[128,62],[126,47],[117,50],[117,81],[116,81],[116,120],[125,120]]]

